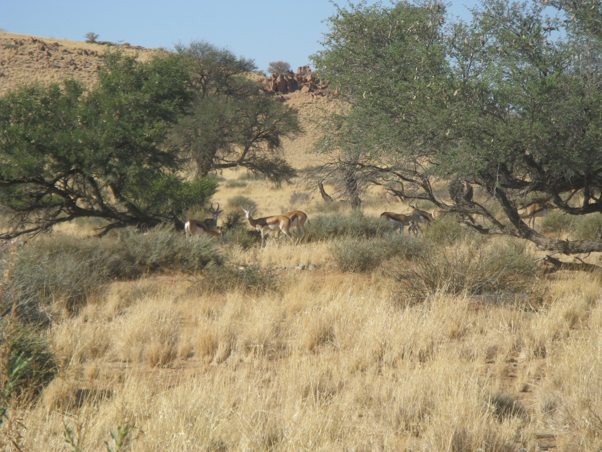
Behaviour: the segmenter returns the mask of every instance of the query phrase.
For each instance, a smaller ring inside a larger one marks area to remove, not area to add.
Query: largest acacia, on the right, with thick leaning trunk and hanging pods
[[[596,33],[577,33],[598,22],[586,10],[577,22],[548,19],[544,8],[486,0],[470,24],[451,25],[438,2],[340,10],[314,58],[351,105],[327,122],[333,133],[321,144],[343,144],[326,169],[353,166],[366,183],[397,183],[403,196],[482,218],[463,224],[483,234],[532,240],[552,253],[602,251],[600,240],[539,234],[517,212],[533,198],[552,199],[569,215],[602,212],[601,46]],[[562,38],[551,36],[561,28]],[[433,180],[452,174],[489,201],[438,198]]]

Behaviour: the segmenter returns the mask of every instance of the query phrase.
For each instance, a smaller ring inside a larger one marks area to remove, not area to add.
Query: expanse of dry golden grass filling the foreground
[[[26,413],[27,447],[63,450],[73,416],[85,450],[124,418],[144,432],[134,450],[600,444],[601,283],[591,276],[550,281],[537,310],[444,295],[400,309],[382,278],[323,271],[261,298],[154,283],[147,295],[132,287],[140,298],[119,315],[99,303],[53,327],[65,364]]]

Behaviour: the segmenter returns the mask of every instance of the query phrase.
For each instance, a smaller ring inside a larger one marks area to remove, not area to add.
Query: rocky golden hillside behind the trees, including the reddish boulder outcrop
[[[73,77],[91,85],[96,81],[107,48],[108,45],[102,43],[0,32],[0,96],[33,81],[51,83]],[[119,48],[137,52],[140,61],[163,51],[127,43],[120,44]],[[317,80],[308,66],[299,67],[297,74],[289,72],[258,80],[267,85],[267,92],[273,92],[299,110],[306,133],[295,140],[285,140],[284,154],[297,168],[311,165],[312,156],[308,151],[314,145],[320,119],[324,112],[341,107],[337,93],[327,89],[327,82]]]

